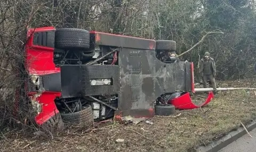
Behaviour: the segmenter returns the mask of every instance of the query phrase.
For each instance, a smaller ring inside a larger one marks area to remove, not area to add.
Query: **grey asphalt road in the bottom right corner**
[[[253,138],[245,134],[218,152],[256,152],[256,129],[252,130],[250,134]]]

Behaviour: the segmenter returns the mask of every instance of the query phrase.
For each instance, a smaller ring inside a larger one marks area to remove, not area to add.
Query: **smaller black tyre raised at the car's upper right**
[[[176,42],[171,40],[157,40],[156,50],[176,51]]]

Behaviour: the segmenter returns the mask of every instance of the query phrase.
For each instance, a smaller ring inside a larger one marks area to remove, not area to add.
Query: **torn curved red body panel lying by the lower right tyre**
[[[181,109],[181,110],[196,109],[196,108],[207,105],[209,102],[212,101],[213,97],[214,97],[213,92],[209,92],[206,101],[202,105],[195,105],[191,100],[189,93],[185,93],[178,98],[169,100],[168,103],[174,105],[176,109]]]

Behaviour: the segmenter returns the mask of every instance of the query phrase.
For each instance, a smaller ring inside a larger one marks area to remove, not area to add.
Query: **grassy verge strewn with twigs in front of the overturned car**
[[[222,87],[256,87],[252,80],[220,82]],[[53,139],[11,131],[2,134],[1,151],[193,151],[256,118],[256,94],[220,92],[202,109],[177,110],[177,117],[148,119],[153,125],[95,124],[94,129],[67,129]],[[180,114],[180,115],[179,115]],[[47,134],[47,133],[46,133]],[[1,138],[1,135],[0,135]],[[117,139],[122,139],[117,142]]]

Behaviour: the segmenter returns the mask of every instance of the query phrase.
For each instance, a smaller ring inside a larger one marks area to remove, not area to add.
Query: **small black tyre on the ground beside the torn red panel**
[[[175,114],[175,107],[173,105],[155,105],[155,115],[170,116]]]

